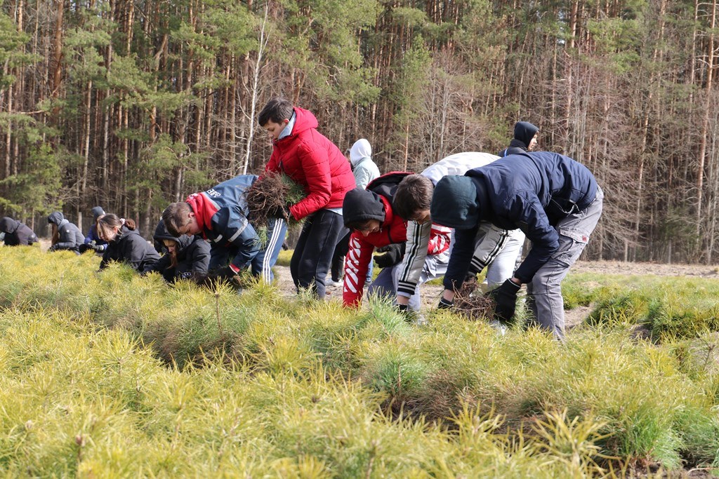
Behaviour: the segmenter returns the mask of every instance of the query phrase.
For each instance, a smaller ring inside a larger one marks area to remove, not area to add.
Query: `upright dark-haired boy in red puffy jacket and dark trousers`
[[[286,205],[296,220],[305,218],[290,260],[293,282],[298,291],[311,289],[324,298],[334,246],[347,232],[342,200],[354,188],[352,169],[339,148],[317,131],[311,111],[273,98],[260,111],[258,122],[273,140],[265,172],[283,172],[307,193]]]

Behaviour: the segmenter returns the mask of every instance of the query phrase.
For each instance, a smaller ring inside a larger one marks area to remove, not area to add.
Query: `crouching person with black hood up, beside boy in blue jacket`
[[[151,271],[162,274],[166,282],[172,283],[180,278],[202,279],[207,275],[210,264],[210,243],[201,236],[180,235],[179,238],[175,238],[168,233],[165,223],[160,220],[153,239],[155,250],[159,246],[167,253],[155,263],[155,266],[152,266]]]

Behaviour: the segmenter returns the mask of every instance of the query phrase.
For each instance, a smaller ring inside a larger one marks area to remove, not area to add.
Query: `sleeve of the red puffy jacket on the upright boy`
[[[300,163],[307,181],[307,196],[290,206],[290,213],[301,220],[324,208],[332,195],[332,175],[326,149],[303,147],[298,150]]]

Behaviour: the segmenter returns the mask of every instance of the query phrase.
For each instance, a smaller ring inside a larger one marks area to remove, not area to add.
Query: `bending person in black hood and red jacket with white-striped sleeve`
[[[407,241],[407,223],[396,215],[392,200],[397,185],[410,173],[388,173],[380,176],[367,186],[367,190],[356,188],[347,192],[342,204],[344,223],[352,230],[349,237],[349,251],[344,260],[344,287],[342,302],[346,307],[359,307],[362,304],[362,292],[367,276],[367,268],[372,261],[372,252],[385,254],[375,256],[375,263],[382,268],[367,294],[395,297],[398,290],[404,246]],[[439,278],[446,270],[449,261],[449,228],[431,225],[429,240],[425,243],[425,254],[421,271],[418,272],[418,284]],[[408,307],[419,311],[419,289],[409,297]]]

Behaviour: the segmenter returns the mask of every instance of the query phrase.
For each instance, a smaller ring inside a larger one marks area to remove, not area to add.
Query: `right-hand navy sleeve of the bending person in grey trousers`
[[[519,198],[511,211],[516,214],[516,223],[520,229],[532,242],[529,253],[514,273],[521,282],[528,283],[559,248],[559,233],[549,224],[549,218],[536,195]]]

